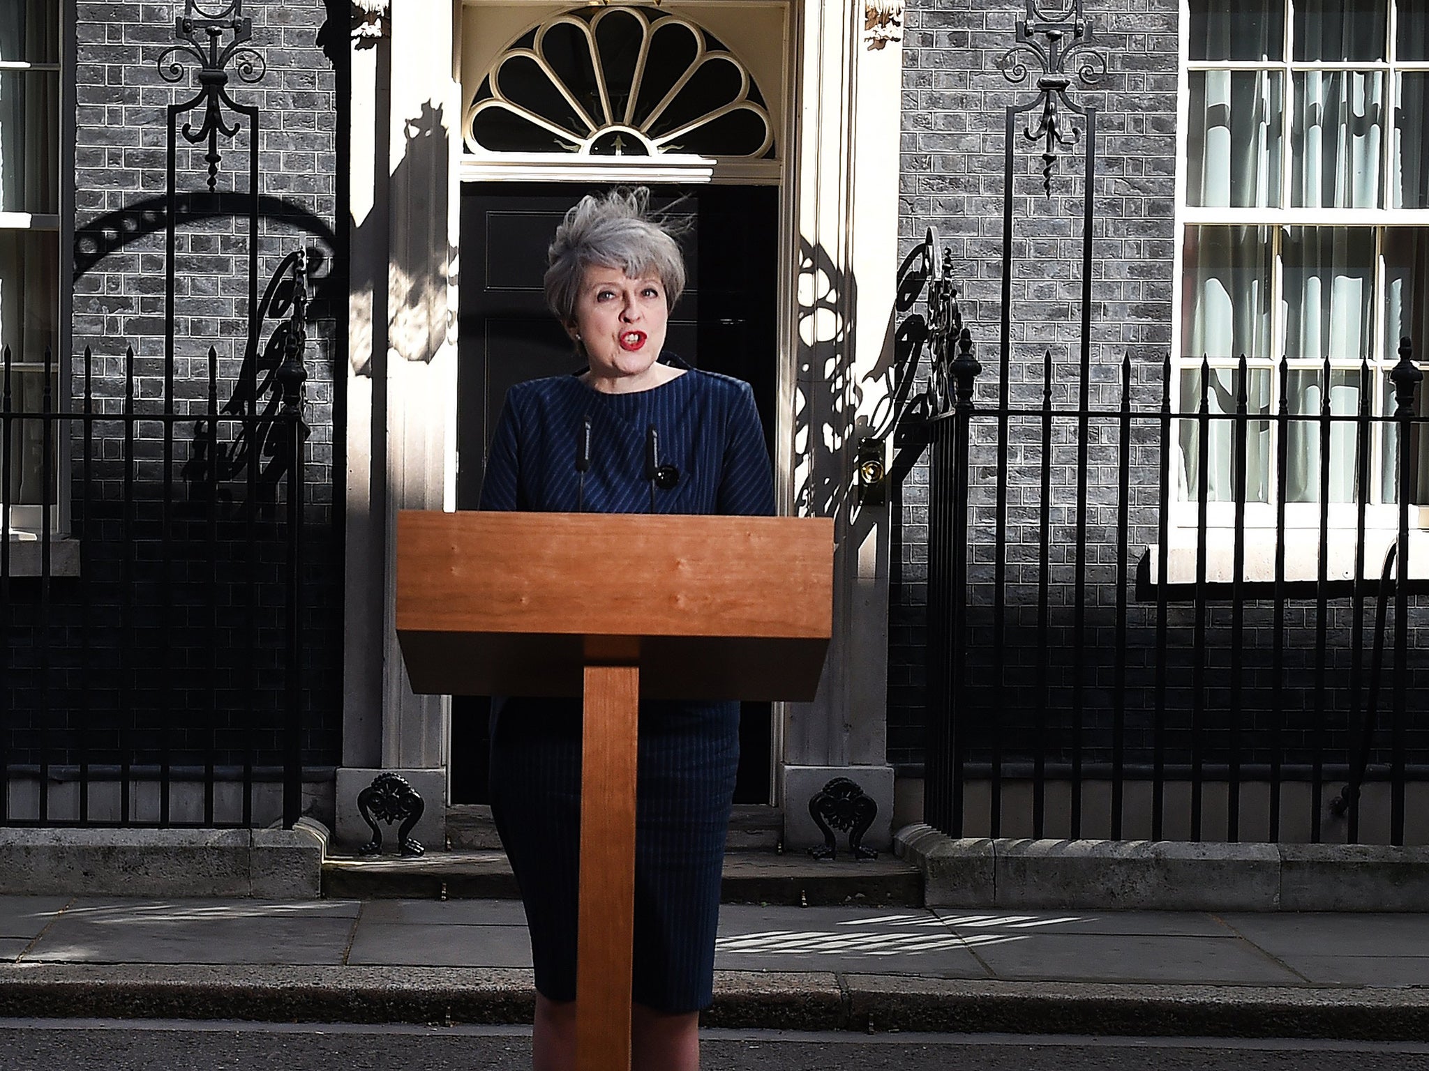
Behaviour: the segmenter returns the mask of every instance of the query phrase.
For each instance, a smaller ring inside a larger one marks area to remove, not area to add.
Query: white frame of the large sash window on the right
[[[1370,414],[1382,413],[1385,391],[1392,390],[1388,386],[1386,373],[1398,363],[1398,353],[1393,351],[1395,347],[1385,343],[1385,278],[1386,266],[1383,256],[1385,237],[1390,228],[1395,227],[1419,227],[1429,230],[1429,208],[1296,208],[1290,206],[1290,191],[1293,181],[1293,134],[1295,134],[1295,83],[1293,74],[1296,71],[1313,71],[1313,70],[1355,70],[1355,71],[1380,71],[1385,79],[1385,127],[1380,143],[1382,167],[1380,167],[1380,188],[1379,200],[1382,206],[1390,204],[1392,200],[1392,170],[1389,163],[1392,160],[1393,151],[1393,114],[1395,103],[1398,96],[1396,76],[1400,73],[1429,73],[1429,61],[1406,61],[1399,63],[1395,56],[1395,43],[1398,39],[1398,3],[1399,0],[1380,0],[1389,9],[1386,17],[1386,57],[1385,60],[1375,61],[1352,61],[1352,63],[1312,63],[1312,61],[1296,61],[1293,60],[1293,20],[1295,20],[1295,0],[1282,0],[1285,6],[1285,40],[1282,44],[1282,59],[1272,61],[1218,61],[1218,60],[1190,60],[1189,57],[1189,39],[1190,39],[1190,0],[1180,0],[1180,34],[1179,34],[1179,56],[1177,56],[1177,103],[1176,103],[1176,193],[1175,193],[1175,267],[1173,278],[1175,287],[1172,294],[1172,410],[1193,413],[1199,406],[1199,398],[1183,398],[1180,390],[1182,371],[1200,367],[1199,357],[1182,356],[1183,344],[1182,337],[1186,328],[1185,323],[1185,308],[1183,308],[1183,283],[1185,283],[1185,244],[1186,233],[1190,227],[1196,226],[1243,226],[1243,227],[1266,227],[1270,230],[1272,236],[1272,316],[1270,316],[1270,363],[1266,364],[1265,360],[1250,361],[1249,367],[1252,370],[1268,370],[1270,376],[1270,408],[1268,416],[1263,418],[1270,424],[1270,451],[1269,451],[1269,501],[1265,503],[1246,503],[1245,504],[1245,524],[1252,530],[1252,541],[1265,543],[1266,538],[1273,541],[1273,530],[1276,526],[1276,503],[1280,488],[1276,486],[1276,464],[1275,464],[1275,436],[1278,434],[1276,424],[1276,407],[1279,403],[1279,361],[1283,358],[1285,341],[1286,341],[1286,308],[1283,303],[1283,281],[1285,281],[1285,267],[1282,263],[1282,251],[1285,246],[1285,234],[1288,227],[1356,227],[1368,228],[1375,234],[1375,273],[1373,273],[1373,308],[1372,308],[1372,327],[1370,340],[1375,347],[1373,357],[1370,360],[1370,376],[1373,396],[1370,398]],[[1279,71],[1282,73],[1282,167],[1280,167],[1280,207],[1276,208],[1220,208],[1220,207],[1193,207],[1187,204],[1187,188],[1189,188],[1189,139],[1190,139],[1190,76],[1195,71],[1202,70],[1245,70],[1245,71]],[[1429,347],[1429,338],[1415,338],[1416,347]],[[1425,353],[1416,353],[1416,360],[1422,364],[1426,358]],[[1216,360],[1210,361],[1212,370],[1230,370],[1232,374],[1238,367],[1235,360]],[[1296,361],[1292,370],[1298,367],[1318,368],[1320,367],[1316,361]],[[1349,370],[1348,363],[1335,361],[1332,364],[1335,371]],[[1359,374],[1359,366],[1353,366],[1355,374]],[[1213,423],[1226,423],[1225,418],[1219,418]],[[1373,451],[1370,464],[1370,487],[1376,488],[1373,496],[1378,497],[1379,474],[1382,464],[1382,436],[1379,434],[1380,424],[1373,424],[1370,428],[1370,448]],[[1170,503],[1170,526],[1177,530],[1196,530],[1199,523],[1200,504],[1196,498],[1195,488],[1189,488],[1189,493],[1182,493],[1179,488],[1179,473],[1182,458],[1177,448],[1179,433],[1177,428],[1172,427],[1172,441],[1166,444],[1166,448],[1175,450],[1172,458],[1172,503]],[[1235,526],[1235,503],[1229,501],[1212,501],[1206,504],[1206,521],[1209,528],[1230,528]],[[1358,524],[1358,504],[1356,503],[1330,503],[1329,504],[1329,527],[1332,531],[1343,531],[1345,528],[1353,530]],[[1318,531],[1320,527],[1322,507],[1319,503],[1286,503],[1285,508],[1285,524],[1286,530],[1296,530],[1299,534],[1292,536],[1292,540],[1303,540],[1305,530]],[[1409,523],[1412,527],[1429,528],[1429,507],[1410,504]],[[1398,528],[1398,507],[1390,503],[1370,501],[1365,511],[1366,528],[1372,531],[1382,531],[1386,528]],[[1258,534],[1255,530],[1269,530],[1265,534]],[[1190,544],[1195,544],[1195,536],[1192,531]],[[1180,538],[1186,543],[1185,537]],[[1173,540],[1175,543],[1175,540]],[[1333,540],[1332,540],[1333,543]],[[1369,543],[1369,540],[1366,540]],[[1368,548],[1368,547],[1366,547]],[[1333,547],[1332,547],[1333,550]],[[1379,563],[1366,561],[1366,570],[1373,570],[1378,574]],[[1415,573],[1419,573],[1419,565],[1415,565]]]

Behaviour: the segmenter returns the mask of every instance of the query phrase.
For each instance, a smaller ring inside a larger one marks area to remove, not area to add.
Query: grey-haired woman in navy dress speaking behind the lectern
[[[664,353],[684,263],[649,191],[584,197],[550,244],[546,300],[587,367],[507,393],[483,510],[772,514],[749,384]],[[637,577],[639,560],[592,570]],[[536,967],[536,1071],[574,1067],[580,701],[499,698],[492,814]],[[636,784],[636,1071],[699,1067],[720,871],[739,763],[737,703],[640,704]]]

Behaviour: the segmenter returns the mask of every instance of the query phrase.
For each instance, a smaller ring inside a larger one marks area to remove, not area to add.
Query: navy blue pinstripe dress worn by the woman
[[[687,367],[663,354],[666,364]],[[749,384],[689,370],[633,394],[574,376],[512,387],[482,487],[483,510],[573,511],[577,436],[592,420],[592,513],[646,513],[646,430],[679,481],[656,490],[673,514],[773,513],[769,451]],[[639,561],[592,568],[640,568]],[[667,1012],[713,1000],[720,870],[739,763],[737,703],[640,704],[636,775],[633,998]],[[580,701],[504,697],[492,715],[492,814],[526,905],[536,988],[576,997]]]

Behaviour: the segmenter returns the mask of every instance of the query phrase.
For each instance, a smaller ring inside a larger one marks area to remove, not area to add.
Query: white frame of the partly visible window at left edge
[[[70,404],[70,340],[73,337],[71,314],[73,314],[73,286],[71,278],[74,274],[74,250],[73,250],[73,233],[74,233],[74,131],[73,123],[66,123],[66,117],[73,119],[74,116],[74,80],[71,73],[74,71],[76,61],[76,41],[73,34],[74,26],[74,0],[50,0],[50,3],[59,7],[59,61],[56,63],[29,63],[29,61],[0,61],[0,70],[16,70],[16,71],[54,71],[59,74],[60,93],[57,97],[57,114],[54,116],[56,123],[56,143],[59,149],[59,191],[56,213],[19,213],[19,211],[0,211],[0,230],[4,231],[21,231],[21,233],[53,233],[57,236],[59,241],[59,257],[56,258],[56,266],[59,271],[59,278],[56,280],[56,348],[51,360],[51,376],[54,381],[51,384],[51,398],[56,413],[71,411]],[[4,340],[0,340],[0,346]],[[21,361],[16,357],[11,363],[11,371],[24,371],[24,374],[43,374],[44,363],[43,360],[36,361]],[[3,374],[3,366],[0,366],[0,374]],[[19,406],[16,406],[19,408]],[[50,503],[50,534],[51,536],[66,536],[71,526],[71,506],[70,506],[70,460],[71,460],[71,444],[70,444],[70,426],[64,421],[56,421],[54,424],[54,457],[51,464],[54,466],[54,500]],[[9,466],[9,458],[6,460]],[[39,540],[43,527],[43,506],[10,506],[10,540],[14,543],[34,543]],[[24,554],[21,561],[16,561],[11,555],[11,568],[14,575],[24,575],[30,571],[27,567],[29,558],[33,555]],[[37,568],[34,570],[37,571]],[[54,570],[56,573],[67,570]]]

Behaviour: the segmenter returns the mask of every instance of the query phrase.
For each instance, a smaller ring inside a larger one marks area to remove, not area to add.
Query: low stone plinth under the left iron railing
[[[327,830],[0,828],[0,894],[304,900]]]

